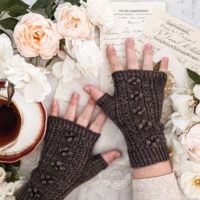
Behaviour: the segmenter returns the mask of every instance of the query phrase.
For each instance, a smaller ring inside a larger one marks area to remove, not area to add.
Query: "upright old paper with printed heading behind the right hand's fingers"
[[[112,2],[115,14],[115,26],[111,33],[100,36],[101,51],[104,55],[104,65],[100,69],[100,87],[109,93],[113,92],[111,72],[106,58],[107,44],[114,44],[123,64],[125,64],[125,39],[138,38],[144,25],[155,8],[165,11],[164,2]]]

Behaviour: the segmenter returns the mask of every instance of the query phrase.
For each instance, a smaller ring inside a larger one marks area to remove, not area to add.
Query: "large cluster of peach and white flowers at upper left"
[[[30,102],[43,101],[51,92],[41,61],[51,64],[63,82],[98,76],[103,57],[95,27],[106,33],[114,23],[108,0],[80,1],[80,6],[65,2],[53,11],[51,19],[32,10],[22,16],[13,32],[17,53],[9,37],[0,35],[0,79],[12,82]]]

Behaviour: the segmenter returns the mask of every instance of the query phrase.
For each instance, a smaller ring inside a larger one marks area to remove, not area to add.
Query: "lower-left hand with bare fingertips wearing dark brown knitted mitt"
[[[106,116],[101,112],[90,123],[95,108],[90,99],[76,119],[78,101],[79,95],[73,94],[64,119],[58,117],[58,102],[53,102],[38,167],[17,200],[62,200],[121,156],[116,150],[92,154]]]

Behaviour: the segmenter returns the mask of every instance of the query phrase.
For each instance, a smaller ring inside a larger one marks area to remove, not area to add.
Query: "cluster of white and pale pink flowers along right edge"
[[[199,198],[200,76],[189,69],[187,72],[185,84],[175,86],[171,95],[174,112],[166,124],[166,137],[182,192],[188,198]]]

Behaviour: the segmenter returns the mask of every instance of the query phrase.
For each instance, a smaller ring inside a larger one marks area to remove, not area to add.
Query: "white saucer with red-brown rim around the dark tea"
[[[7,98],[5,82],[0,82],[0,98]],[[15,162],[31,153],[46,131],[47,113],[42,103],[26,102],[17,91],[12,102],[20,113],[21,127],[14,141],[0,147],[0,162]]]

